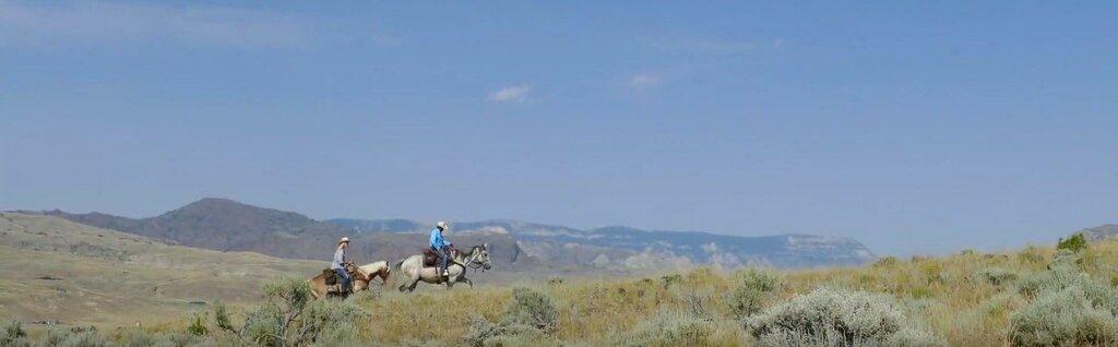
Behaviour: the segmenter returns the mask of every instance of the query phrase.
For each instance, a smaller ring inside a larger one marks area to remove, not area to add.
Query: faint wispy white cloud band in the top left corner
[[[310,41],[301,18],[217,6],[0,0],[0,46],[178,42],[240,48],[294,48]]]

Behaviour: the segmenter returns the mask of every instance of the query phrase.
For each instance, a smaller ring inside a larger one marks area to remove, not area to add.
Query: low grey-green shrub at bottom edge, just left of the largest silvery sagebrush
[[[716,326],[690,314],[660,311],[616,341],[618,346],[707,346]]]

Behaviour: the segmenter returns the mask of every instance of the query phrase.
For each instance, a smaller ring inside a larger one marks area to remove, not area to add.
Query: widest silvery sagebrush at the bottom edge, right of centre
[[[819,288],[747,319],[762,346],[941,346],[888,296]]]

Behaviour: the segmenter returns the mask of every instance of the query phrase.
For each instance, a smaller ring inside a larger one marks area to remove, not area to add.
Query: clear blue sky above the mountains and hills
[[[1002,250],[1118,222],[1114,2],[0,0],[0,209]]]

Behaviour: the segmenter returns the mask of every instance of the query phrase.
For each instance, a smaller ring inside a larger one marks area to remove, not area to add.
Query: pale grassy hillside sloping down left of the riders
[[[214,300],[258,301],[265,280],[305,277],[326,266],[0,212],[0,316],[25,321],[164,321]]]

